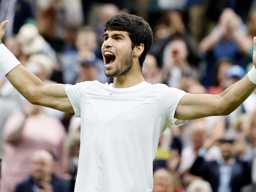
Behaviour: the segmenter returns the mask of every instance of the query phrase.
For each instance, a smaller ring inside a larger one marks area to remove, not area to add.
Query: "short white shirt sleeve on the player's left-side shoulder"
[[[88,86],[88,82],[76,83],[75,85],[66,84],[65,92],[68,96],[68,99],[71,102],[73,107],[75,117],[81,116],[81,105],[80,105],[80,97],[82,90]]]

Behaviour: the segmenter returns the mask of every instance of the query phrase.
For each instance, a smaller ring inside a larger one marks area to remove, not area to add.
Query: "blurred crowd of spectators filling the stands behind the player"
[[[112,83],[101,43],[119,13],[153,29],[149,83],[219,94],[252,67],[256,0],[0,0],[4,44],[45,83]],[[256,92],[228,116],[168,127],[153,192],[255,192],[255,117]],[[73,192],[79,148],[79,118],[30,104],[0,75],[1,192]]]

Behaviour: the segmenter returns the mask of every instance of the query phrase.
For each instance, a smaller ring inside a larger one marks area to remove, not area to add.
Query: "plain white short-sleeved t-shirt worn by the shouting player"
[[[81,145],[75,192],[152,192],[159,136],[186,92],[165,84],[114,88],[98,81],[67,84]]]

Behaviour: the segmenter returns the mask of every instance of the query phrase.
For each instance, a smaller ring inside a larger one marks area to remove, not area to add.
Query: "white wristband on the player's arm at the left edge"
[[[7,75],[14,67],[18,66],[20,62],[18,59],[0,43],[0,71],[3,75]]]

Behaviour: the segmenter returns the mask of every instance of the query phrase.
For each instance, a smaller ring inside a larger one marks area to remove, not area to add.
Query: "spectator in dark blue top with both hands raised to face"
[[[235,64],[245,65],[247,49],[246,27],[236,13],[226,8],[219,17],[219,24],[199,45],[201,53],[206,53],[206,74],[203,84],[208,88],[213,84],[213,74],[220,58],[229,58]]]

